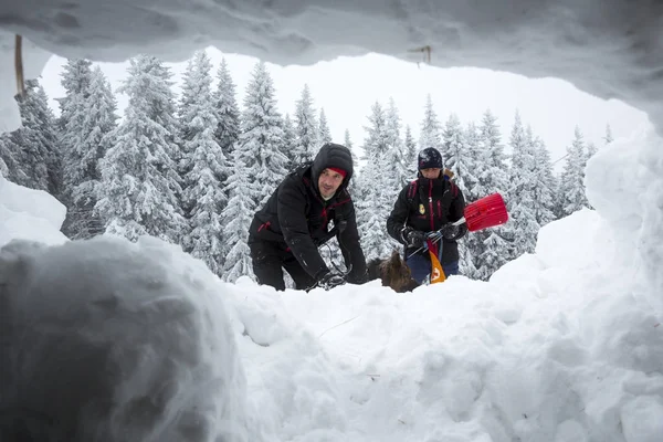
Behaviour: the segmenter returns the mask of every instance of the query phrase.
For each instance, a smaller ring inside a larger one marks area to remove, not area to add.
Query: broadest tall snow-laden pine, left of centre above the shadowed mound
[[[102,160],[95,209],[107,233],[131,241],[147,233],[179,243],[186,221],[173,160],[179,147],[171,73],[155,56],[138,55],[129,62],[129,76],[118,90],[129,103],[115,145]]]

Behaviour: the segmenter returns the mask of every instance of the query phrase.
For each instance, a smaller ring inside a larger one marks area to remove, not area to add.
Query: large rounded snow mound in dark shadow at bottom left
[[[259,440],[223,297],[201,262],[156,239],[9,243],[0,440]]]

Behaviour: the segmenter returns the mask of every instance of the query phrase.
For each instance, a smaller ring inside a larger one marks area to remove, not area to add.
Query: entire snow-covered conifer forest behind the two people
[[[348,146],[362,165],[350,192],[367,259],[401,249],[387,234],[386,220],[398,192],[415,178],[417,154],[425,147],[442,151],[467,202],[492,192],[507,202],[506,224],[460,242],[461,273],[471,278],[487,280],[506,262],[533,253],[541,227],[589,207],[583,171],[598,147],[578,127],[569,134],[567,155],[550,158],[517,110],[511,131],[502,134],[490,109],[477,122],[455,114],[442,120],[428,96],[414,139],[393,99],[381,97],[366,109],[364,139],[350,139],[348,130],[333,139],[324,103],[315,103],[307,85],[293,97],[293,115],[278,110],[263,62],[243,97],[225,61],[213,70],[204,51],[188,61],[179,95],[162,61],[140,55],[129,62],[114,92],[98,66],[69,60],[57,118],[39,81],[27,82],[19,103],[23,125],[0,135],[0,172],[56,197],[67,208],[62,231],[71,239],[150,234],[180,244],[224,281],[253,277],[246,239],[254,211],[328,141]],[[122,118],[115,93],[128,97]],[[607,126],[604,143],[611,141]],[[554,161],[564,161],[559,176]],[[322,252],[343,262],[335,240]]]

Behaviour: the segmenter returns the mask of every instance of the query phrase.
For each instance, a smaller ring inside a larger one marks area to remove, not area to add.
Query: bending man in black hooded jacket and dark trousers
[[[320,148],[313,164],[285,177],[255,213],[249,231],[253,273],[260,284],[284,291],[283,269],[297,290],[366,282],[366,259],[347,190],[351,177],[350,150],[332,143]],[[334,235],[350,270],[347,278],[330,271],[318,251]]]

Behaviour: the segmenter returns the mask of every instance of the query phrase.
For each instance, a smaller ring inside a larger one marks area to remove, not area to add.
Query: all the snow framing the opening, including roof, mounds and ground
[[[404,295],[377,282],[275,293],[221,283],[155,239],[66,242],[61,206],[0,178],[0,245],[49,244],[0,251],[0,440],[663,440],[660,2],[107,4],[3,6],[4,129],[18,125],[21,32],[108,61],[210,42],[285,63],[411,59],[430,44],[436,65],[555,75],[621,97],[659,135],[634,131],[592,158],[597,211],[546,227],[535,255],[488,283],[452,277]],[[27,43],[27,77],[46,55]]]

